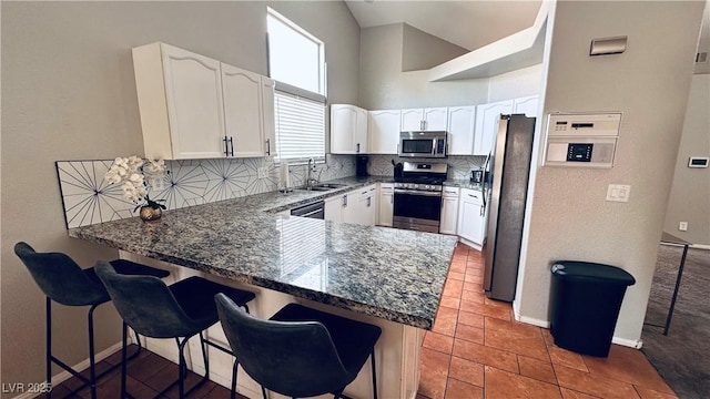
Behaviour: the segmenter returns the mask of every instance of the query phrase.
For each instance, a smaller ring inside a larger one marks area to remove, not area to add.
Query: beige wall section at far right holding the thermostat
[[[690,156],[710,156],[710,74],[692,76],[663,224],[677,237],[710,246],[710,168],[688,167]],[[678,229],[681,221],[687,232]]]

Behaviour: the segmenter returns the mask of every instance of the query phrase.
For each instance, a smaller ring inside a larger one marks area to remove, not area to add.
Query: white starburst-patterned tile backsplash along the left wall
[[[135,216],[135,204],[123,197],[120,185],[103,180],[113,160],[58,161],[67,227],[79,227]],[[152,200],[165,200],[168,209],[261,194],[278,188],[278,170],[271,158],[166,161],[170,171]],[[291,165],[292,186],[305,185],[306,165]],[[260,170],[265,177],[258,177]],[[316,164],[321,181],[355,175],[354,155],[327,155]]]

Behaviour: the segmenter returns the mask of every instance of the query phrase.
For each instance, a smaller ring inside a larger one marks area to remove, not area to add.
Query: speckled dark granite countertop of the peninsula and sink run
[[[456,237],[274,215],[387,176],[333,181],[328,192],[296,190],[169,209],[69,231],[74,238],[165,260],[235,282],[430,329]]]

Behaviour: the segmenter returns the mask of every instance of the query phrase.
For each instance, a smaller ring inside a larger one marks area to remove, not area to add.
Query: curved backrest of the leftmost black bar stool
[[[83,306],[109,300],[105,288],[95,275],[85,273],[68,255],[38,253],[24,242],[14,245],[14,253],[30,270],[40,289],[53,301],[67,306]]]

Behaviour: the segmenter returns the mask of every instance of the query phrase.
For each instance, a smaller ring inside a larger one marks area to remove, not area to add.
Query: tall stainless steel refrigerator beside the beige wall
[[[500,115],[485,184],[490,200],[484,289],[493,299],[515,298],[534,135],[535,117]]]

